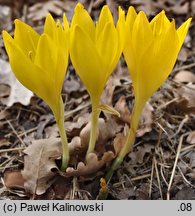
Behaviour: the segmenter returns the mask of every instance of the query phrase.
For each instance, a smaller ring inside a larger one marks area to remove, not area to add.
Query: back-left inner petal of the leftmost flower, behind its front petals
[[[16,19],[14,41],[23,50],[26,56],[29,56],[31,52],[31,59],[34,59],[37,43],[39,40],[39,34],[32,29],[29,25]]]

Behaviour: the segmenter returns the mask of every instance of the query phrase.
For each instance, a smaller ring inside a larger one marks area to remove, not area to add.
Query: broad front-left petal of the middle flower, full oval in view
[[[105,71],[99,53],[80,26],[75,26],[70,37],[70,57],[74,68],[91,97],[100,97],[105,84]]]

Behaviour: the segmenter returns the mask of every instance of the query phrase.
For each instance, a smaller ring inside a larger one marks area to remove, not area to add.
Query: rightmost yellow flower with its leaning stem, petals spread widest
[[[137,14],[133,7],[129,8],[123,53],[133,82],[135,104],[130,132],[111,170],[120,165],[133,145],[145,103],[171,73],[190,22],[191,18],[176,29],[175,21],[169,21],[164,11],[149,22],[143,11]]]

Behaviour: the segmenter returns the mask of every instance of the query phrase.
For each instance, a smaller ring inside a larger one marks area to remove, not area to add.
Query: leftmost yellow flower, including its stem
[[[64,28],[49,14],[41,35],[29,25],[15,20],[14,38],[3,31],[3,40],[17,79],[42,98],[54,113],[62,139],[64,170],[69,161],[69,150],[61,90],[68,64],[69,24],[65,15],[63,20]]]

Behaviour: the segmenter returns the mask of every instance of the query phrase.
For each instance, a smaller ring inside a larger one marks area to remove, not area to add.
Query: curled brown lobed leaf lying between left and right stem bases
[[[105,152],[101,159],[98,159],[95,153],[90,153],[86,161],[86,164],[79,162],[77,169],[68,167],[66,169],[65,176],[84,176],[97,172],[106,165],[108,162],[114,159],[114,153],[109,151]]]

